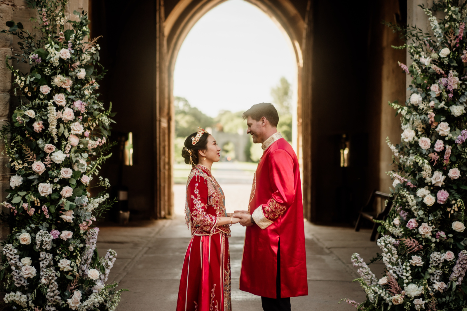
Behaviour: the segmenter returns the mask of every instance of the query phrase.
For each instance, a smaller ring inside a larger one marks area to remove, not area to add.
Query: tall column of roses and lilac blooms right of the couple
[[[358,310],[467,310],[467,2],[421,8],[430,33],[391,25],[407,39],[394,48],[410,54],[410,66],[399,65],[412,78],[411,94],[405,104],[389,103],[402,115],[403,133],[398,145],[388,139],[394,205],[378,221],[382,254],[371,260],[386,269],[377,278],[352,256],[367,299],[346,301]]]

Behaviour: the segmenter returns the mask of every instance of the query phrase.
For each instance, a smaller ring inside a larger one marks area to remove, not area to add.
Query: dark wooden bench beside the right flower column
[[[371,211],[373,209],[373,203],[375,202],[376,198],[381,198],[381,206],[384,207],[381,213]],[[376,223],[374,220],[385,220],[386,219],[386,217],[389,214],[389,211],[394,205],[393,203],[389,202],[387,206],[384,206],[384,201],[389,198],[390,198],[389,194],[385,194],[383,192],[373,190],[373,192],[370,195],[370,198],[368,199],[367,204],[364,205],[359,212],[358,220],[357,220],[357,223],[355,224],[355,231],[360,230],[361,221],[363,221],[363,219],[368,219],[369,221],[373,221],[373,230],[371,231],[370,241],[375,241],[376,235],[378,234],[378,227],[380,226],[380,224]]]

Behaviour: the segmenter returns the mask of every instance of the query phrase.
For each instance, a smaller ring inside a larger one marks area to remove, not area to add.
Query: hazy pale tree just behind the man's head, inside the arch
[[[272,103],[279,113],[279,124],[277,131],[280,131],[283,138],[288,142],[292,141],[292,88],[285,77],[281,77],[276,87],[271,88]]]

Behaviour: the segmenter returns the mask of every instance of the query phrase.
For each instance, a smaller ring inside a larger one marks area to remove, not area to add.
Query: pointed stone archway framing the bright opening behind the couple
[[[173,109],[173,72],[186,35],[209,10],[225,0],[180,0],[165,18],[163,0],[156,1],[156,216],[173,215],[173,140],[175,122]],[[297,59],[297,150],[303,169],[304,213],[310,219],[311,207],[311,1],[308,0],[305,19],[289,0],[247,0],[259,7],[287,33]],[[305,53],[306,52],[306,53]],[[302,139],[302,137],[304,139]],[[308,138],[308,139],[307,139]],[[307,191],[307,189],[310,189]]]

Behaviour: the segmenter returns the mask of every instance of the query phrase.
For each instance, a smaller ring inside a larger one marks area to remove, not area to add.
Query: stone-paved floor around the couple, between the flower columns
[[[249,185],[224,185],[227,211],[240,209],[248,202]],[[140,221],[126,227],[101,227],[99,254],[114,249],[118,256],[109,282],[119,282],[122,294],[118,310],[175,310],[182,263],[190,240],[184,223],[184,185],[175,185],[177,216],[173,220]],[[232,263],[233,310],[262,310],[260,297],[238,289],[245,230],[232,226],[229,240]],[[292,310],[355,310],[338,304],[341,298],[358,302],[365,298],[358,283],[356,269],[350,263],[354,252],[366,262],[380,249],[369,241],[370,231],[352,228],[316,226],[305,222],[305,243],[309,295],[291,298]],[[372,264],[376,276],[382,264]]]

